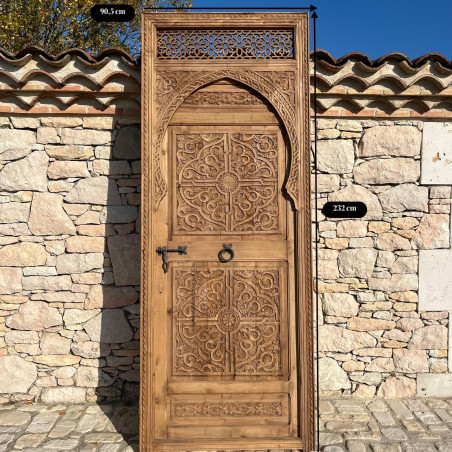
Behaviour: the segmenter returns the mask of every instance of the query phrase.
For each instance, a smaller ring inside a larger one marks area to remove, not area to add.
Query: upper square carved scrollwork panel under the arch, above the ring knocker
[[[277,133],[176,133],[175,231],[280,232]]]

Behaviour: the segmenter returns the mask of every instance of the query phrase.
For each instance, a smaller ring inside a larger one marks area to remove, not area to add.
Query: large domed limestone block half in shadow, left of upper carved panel
[[[64,200],[77,204],[121,205],[116,182],[106,176],[79,180]]]

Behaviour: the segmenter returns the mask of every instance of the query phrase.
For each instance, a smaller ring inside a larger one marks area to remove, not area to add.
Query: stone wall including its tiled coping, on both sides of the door
[[[452,64],[318,59],[321,393],[451,396]],[[28,49],[0,72],[0,403],[136,401],[140,66]]]

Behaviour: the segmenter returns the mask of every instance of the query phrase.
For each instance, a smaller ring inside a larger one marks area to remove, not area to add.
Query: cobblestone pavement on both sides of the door
[[[0,406],[0,452],[138,452],[135,405],[28,403]],[[322,399],[320,450],[452,452],[452,399]]]

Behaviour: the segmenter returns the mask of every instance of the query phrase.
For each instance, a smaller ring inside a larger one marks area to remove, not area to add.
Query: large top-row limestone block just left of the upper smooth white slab
[[[421,138],[417,127],[371,127],[364,132],[358,153],[360,157],[415,156],[421,152]]]

